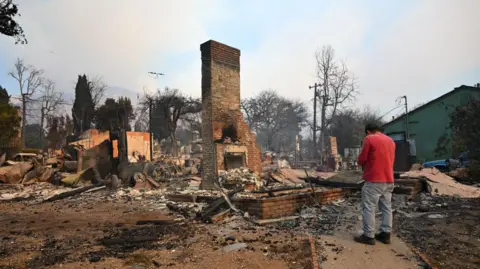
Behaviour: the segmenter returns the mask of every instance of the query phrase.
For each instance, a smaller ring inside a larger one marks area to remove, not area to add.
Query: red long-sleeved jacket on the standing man
[[[393,182],[395,142],[382,134],[367,135],[363,140],[358,164],[363,166],[363,179],[368,182]]]

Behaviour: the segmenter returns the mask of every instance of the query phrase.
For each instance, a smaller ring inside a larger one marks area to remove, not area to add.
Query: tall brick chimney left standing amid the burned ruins
[[[240,111],[240,50],[217,41],[200,45],[202,55],[202,189],[212,189],[224,163],[217,144],[226,136],[247,149],[247,167],[261,172],[260,148]],[[225,132],[225,133],[224,133]],[[228,132],[228,133],[227,133]],[[221,148],[221,147],[220,147]],[[219,156],[220,155],[220,156]]]

